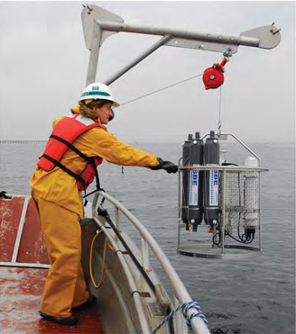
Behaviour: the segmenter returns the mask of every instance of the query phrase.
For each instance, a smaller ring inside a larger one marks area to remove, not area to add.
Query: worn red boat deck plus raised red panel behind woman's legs
[[[25,202],[23,196],[0,198],[0,332],[103,333],[96,307],[73,311],[79,323],[71,327],[41,318],[48,269],[38,266],[46,266],[48,257],[32,201]]]

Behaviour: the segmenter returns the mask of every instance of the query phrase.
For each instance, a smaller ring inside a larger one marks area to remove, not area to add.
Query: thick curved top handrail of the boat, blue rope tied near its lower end
[[[153,239],[153,236],[148,232],[148,230],[145,229],[143,224],[140,221],[138,221],[134,217],[134,215],[125,208],[123,204],[119,203],[118,201],[116,201],[115,198],[113,198],[109,194],[106,194],[103,191],[97,192],[97,194],[94,196],[93,208],[97,206],[98,195],[101,195],[102,197],[106,198],[106,200],[108,200],[110,203],[112,203],[116,207],[116,209],[122,212],[125,215],[125,217],[140,232],[141,237],[148,243],[150,248],[153,250],[155,257],[158,259],[159,263],[161,264],[164,273],[167,275],[169,281],[171,282],[171,287],[173,289],[174,295],[178,298],[179,302],[180,303],[192,302],[190,294],[188,293],[183,282],[180,280],[180,277],[176,273],[173,266],[171,266],[171,262],[165,256],[165,254],[162,251],[162,248],[160,248],[156,240]],[[93,212],[95,212],[95,210],[93,210]],[[194,314],[195,311],[189,310],[188,313],[190,316],[191,314]],[[192,318],[190,323],[191,323],[192,329],[196,333],[199,333],[199,334],[209,334],[210,333],[207,325],[199,317]]]

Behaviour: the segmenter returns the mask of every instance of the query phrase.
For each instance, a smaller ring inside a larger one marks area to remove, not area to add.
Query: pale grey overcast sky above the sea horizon
[[[77,105],[88,57],[82,2],[0,2],[0,140],[43,140],[52,121]],[[273,50],[240,46],[226,65],[222,132],[248,141],[294,141],[295,2],[125,2],[99,5],[125,23],[239,35],[275,23],[282,40]],[[97,81],[104,81],[159,37],[117,33],[103,43]],[[124,104],[202,74],[218,52],[162,47],[112,89]],[[125,142],[182,142],[188,133],[217,131],[219,89],[201,77],[116,110],[108,131]]]

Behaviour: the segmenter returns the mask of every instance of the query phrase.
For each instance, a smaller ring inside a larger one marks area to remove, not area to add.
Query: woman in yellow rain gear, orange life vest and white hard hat
[[[72,116],[53,122],[46,149],[32,175],[32,199],[42,225],[51,268],[40,314],[46,320],[75,325],[71,309],[94,301],[81,267],[83,218],[81,191],[97,176],[105,158],[122,166],[150,167],[176,173],[178,167],[141,149],[134,149],[106,131],[118,106],[110,88],[94,83],[84,90]],[[97,177],[96,177],[97,178]]]

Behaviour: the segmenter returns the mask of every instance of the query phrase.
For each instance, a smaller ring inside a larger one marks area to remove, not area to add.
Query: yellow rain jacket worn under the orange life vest
[[[72,108],[73,112],[79,112],[79,106]],[[53,127],[60,121],[53,122]],[[159,161],[155,155],[134,149],[132,146],[117,140],[116,137],[100,128],[86,131],[74,141],[73,145],[88,157],[98,156],[106,161],[121,166],[158,166]],[[84,158],[79,157],[73,150],[68,149],[60,159],[60,163],[75,174],[80,174],[87,166]],[[35,196],[43,200],[56,203],[72,212],[83,216],[81,195],[77,187],[77,181],[59,167],[50,172],[36,167],[31,180],[32,191]]]

